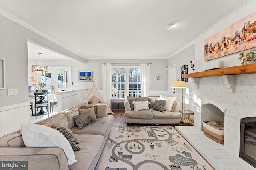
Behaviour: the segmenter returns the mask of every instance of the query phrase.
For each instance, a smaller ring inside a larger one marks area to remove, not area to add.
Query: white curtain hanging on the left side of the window
[[[103,99],[108,106],[110,106],[111,77],[111,64],[102,64]]]

